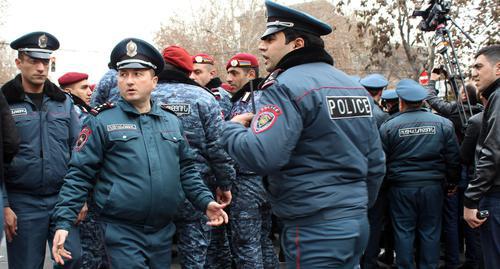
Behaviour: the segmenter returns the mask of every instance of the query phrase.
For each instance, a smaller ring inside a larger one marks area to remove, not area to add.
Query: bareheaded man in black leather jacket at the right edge
[[[481,227],[485,268],[500,264],[500,45],[481,49],[475,56],[472,78],[488,99],[476,151],[476,175],[465,191],[464,219]],[[479,210],[489,217],[479,219]]]

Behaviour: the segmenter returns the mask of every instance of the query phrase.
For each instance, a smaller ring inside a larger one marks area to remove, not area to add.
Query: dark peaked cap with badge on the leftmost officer
[[[31,58],[46,60],[59,48],[59,40],[47,32],[32,32],[12,41],[10,47]]]

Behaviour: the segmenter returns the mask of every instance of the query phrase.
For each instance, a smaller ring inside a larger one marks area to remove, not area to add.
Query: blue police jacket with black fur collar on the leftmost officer
[[[78,118],[71,98],[46,81],[41,110],[24,93],[21,75],[2,87],[21,138],[19,152],[6,169],[8,192],[50,195],[63,184]]]

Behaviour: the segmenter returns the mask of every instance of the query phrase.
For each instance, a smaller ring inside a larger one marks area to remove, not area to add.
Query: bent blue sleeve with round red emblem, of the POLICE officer
[[[222,141],[238,164],[267,175],[288,163],[302,133],[302,117],[284,86],[272,85],[263,91],[251,128],[226,122]]]

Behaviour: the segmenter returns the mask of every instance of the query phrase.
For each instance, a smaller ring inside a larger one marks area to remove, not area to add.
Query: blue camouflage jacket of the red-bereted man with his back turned
[[[174,111],[181,120],[189,145],[196,153],[198,171],[204,179],[215,176],[216,182],[207,183],[230,186],[236,172],[219,141],[223,119],[217,100],[208,89],[194,85],[182,73],[169,70],[162,72],[159,79],[152,98]],[[182,79],[185,83],[179,82]]]

